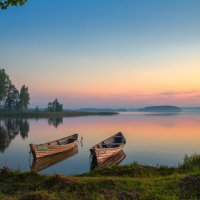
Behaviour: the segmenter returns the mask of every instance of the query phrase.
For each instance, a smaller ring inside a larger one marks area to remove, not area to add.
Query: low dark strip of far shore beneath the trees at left
[[[0,111],[0,117],[20,117],[20,118],[51,118],[51,117],[79,117],[92,115],[117,115],[116,112],[79,112],[79,111],[64,111],[64,112],[34,112],[34,111]]]

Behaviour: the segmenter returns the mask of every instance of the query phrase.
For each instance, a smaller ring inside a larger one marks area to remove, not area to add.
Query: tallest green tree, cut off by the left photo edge
[[[9,76],[4,69],[0,69],[0,106],[4,103],[11,85]]]

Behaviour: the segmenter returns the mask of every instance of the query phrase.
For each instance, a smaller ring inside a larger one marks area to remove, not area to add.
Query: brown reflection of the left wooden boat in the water
[[[31,171],[34,171],[34,172],[42,171],[52,165],[55,165],[63,160],[66,160],[76,155],[77,153],[78,153],[78,145],[76,145],[75,147],[67,151],[63,151],[61,153],[44,156],[41,158],[34,158],[31,165]]]

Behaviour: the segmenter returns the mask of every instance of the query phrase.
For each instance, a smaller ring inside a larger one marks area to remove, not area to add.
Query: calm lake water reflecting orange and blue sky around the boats
[[[83,137],[78,153],[41,173],[74,175],[90,170],[89,149],[121,131],[127,144],[121,164],[137,161],[148,165],[175,166],[184,155],[200,153],[200,113],[174,115],[121,113],[53,119],[0,119],[0,168],[29,171],[30,143],[45,143],[78,133]]]

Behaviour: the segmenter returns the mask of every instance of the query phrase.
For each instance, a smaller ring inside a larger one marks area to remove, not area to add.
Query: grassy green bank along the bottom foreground
[[[200,199],[200,155],[178,167],[132,163],[79,176],[0,170],[0,199]]]

